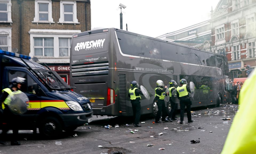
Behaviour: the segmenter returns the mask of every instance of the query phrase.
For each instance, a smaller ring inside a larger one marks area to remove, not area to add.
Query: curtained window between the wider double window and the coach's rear
[[[59,56],[69,56],[71,46],[71,38],[59,38]]]

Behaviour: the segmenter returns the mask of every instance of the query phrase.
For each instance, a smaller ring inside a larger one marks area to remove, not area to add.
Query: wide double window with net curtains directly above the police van
[[[53,57],[53,38],[34,38],[35,56]]]

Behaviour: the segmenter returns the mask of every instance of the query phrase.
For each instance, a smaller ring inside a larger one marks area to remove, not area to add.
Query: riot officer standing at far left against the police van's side
[[[10,102],[7,99],[8,95],[14,95],[12,92],[13,91],[18,91],[19,89],[21,89],[22,83],[25,82],[25,78],[21,78],[21,77],[17,77],[17,78],[13,78],[11,80],[11,85],[9,86],[9,88],[5,88],[2,90],[2,96],[0,98],[1,101],[1,107],[0,110],[2,111],[2,115],[0,117],[0,121],[2,123],[2,134],[1,134],[1,139],[6,140],[6,136],[7,136],[7,131],[10,129],[13,130],[13,134],[11,137],[11,145],[12,146],[18,146],[21,143],[19,143],[17,141],[17,135],[18,135],[18,129],[17,129],[17,125],[18,125],[18,121],[19,121],[19,116],[13,114],[9,107],[8,107],[8,103]],[[3,124],[6,123],[6,124]],[[5,145],[6,142],[5,141],[0,141],[0,144]]]

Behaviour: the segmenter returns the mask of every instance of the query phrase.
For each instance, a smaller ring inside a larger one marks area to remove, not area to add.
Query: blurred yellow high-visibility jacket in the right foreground
[[[256,71],[244,82],[239,94],[239,112],[236,113],[227,135],[222,154],[255,153],[256,151]]]

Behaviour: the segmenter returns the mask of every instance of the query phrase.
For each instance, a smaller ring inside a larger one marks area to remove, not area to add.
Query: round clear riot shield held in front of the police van
[[[15,115],[27,112],[29,98],[25,93],[22,93],[21,91],[13,91],[6,99],[9,101],[8,107],[10,111]]]

